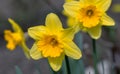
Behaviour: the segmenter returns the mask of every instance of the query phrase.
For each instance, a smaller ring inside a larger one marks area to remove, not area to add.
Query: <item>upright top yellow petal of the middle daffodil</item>
[[[47,15],[45,24],[50,31],[55,33],[63,29],[59,17],[54,13]]]

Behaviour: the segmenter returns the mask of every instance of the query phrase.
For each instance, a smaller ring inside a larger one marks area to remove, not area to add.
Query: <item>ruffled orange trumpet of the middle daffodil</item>
[[[37,46],[44,57],[59,57],[63,52],[62,44],[55,35],[45,35],[38,41]]]

